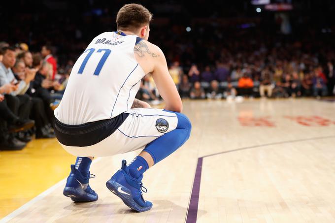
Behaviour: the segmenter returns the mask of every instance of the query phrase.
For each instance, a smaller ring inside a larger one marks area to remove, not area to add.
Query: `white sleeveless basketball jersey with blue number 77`
[[[145,75],[134,58],[136,35],[104,32],[73,65],[55,117],[67,125],[113,118],[129,110]]]

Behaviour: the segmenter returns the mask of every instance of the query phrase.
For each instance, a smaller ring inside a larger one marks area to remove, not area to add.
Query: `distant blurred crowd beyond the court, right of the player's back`
[[[185,69],[179,61],[171,63],[169,73],[182,98],[221,99],[242,97],[301,97],[335,95],[334,60],[321,65],[317,57],[302,54],[293,60],[280,59],[271,49],[255,51],[248,61],[241,54],[233,56],[223,52],[222,60],[215,65],[197,64]],[[291,53],[294,51],[291,50]],[[142,81],[138,97],[147,100],[157,98],[157,89],[151,77]]]

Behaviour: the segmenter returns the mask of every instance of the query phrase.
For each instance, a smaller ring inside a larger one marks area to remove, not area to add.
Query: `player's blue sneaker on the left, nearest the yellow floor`
[[[88,172],[88,177],[84,177],[74,165],[71,165],[70,175],[67,177],[67,184],[63,194],[77,202],[89,202],[98,200],[98,194],[93,191],[88,184],[90,178],[95,175]]]

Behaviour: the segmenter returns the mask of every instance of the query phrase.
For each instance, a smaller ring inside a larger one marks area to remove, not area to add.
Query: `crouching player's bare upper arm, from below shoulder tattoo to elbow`
[[[155,53],[158,56],[153,58],[154,67],[152,77],[154,78],[158,92],[166,103],[165,109],[181,112],[183,110],[183,104],[172,77],[168,72],[167,60],[159,47],[154,45],[153,51],[156,51]]]

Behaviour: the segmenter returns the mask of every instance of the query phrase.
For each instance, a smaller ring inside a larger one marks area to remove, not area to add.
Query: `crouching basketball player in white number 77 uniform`
[[[123,6],[117,32],[95,37],[73,65],[64,97],[55,110],[55,133],[63,148],[77,156],[64,195],[95,201],[89,186],[94,157],[142,149],[107,181],[107,188],[135,211],[152,203],[142,196],[143,173],[177,150],[190,137],[191,123],[161,49],[148,42],[152,14],[142,5]],[[151,73],[166,102],[164,110],[134,99],[141,79]],[[146,189],[145,189],[146,192]]]

